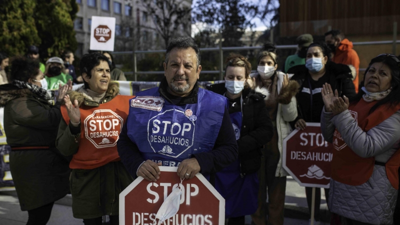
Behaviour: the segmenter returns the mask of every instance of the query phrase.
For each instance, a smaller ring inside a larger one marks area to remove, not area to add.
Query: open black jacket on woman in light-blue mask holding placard
[[[328,61],[325,65],[325,68],[326,68],[325,74],[329,75],[328,83],[331,85],[333,91],[337,89],[339,96],[346,95],[346,97],[349,98],[356,94],[354,84],[351,80],[352,70],[348,65],[337,64],[332,61]],[[307,76],[309,74],[308,69],[305,67],[305,65],[296,65],[291,67],[287,71],[287,73],[294,73],[294,75],[291,77],[291,80],[295,80],[300,84],[299,92],[296,94],[298,116],[290,124],[292,125],[292,127],[294,127],[295,122],[300,118],[303,118],[306,122],[319,122],[321,111],[312,110],[316,114],[314,116],[309,116],[306,115],[305,112],[299,106],[301,102],[309,101],[309,99],[302,99],[300,97],[303,84],[304,82],[307,82]],[[321,108],[322,106],[323,105],[321,105]],[[318,121],[313,121],[313,120],[311,121],[310,119],[306,119],[307,117],[317,117]]]

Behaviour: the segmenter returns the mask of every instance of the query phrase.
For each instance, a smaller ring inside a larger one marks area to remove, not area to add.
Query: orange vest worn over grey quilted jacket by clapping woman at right
[[[369,110],[378,101],[366,102],[361,98],[348,107],[358,126],[365,132],[383,122],[400,109],[400,104],[394,107],[379,106],[372,113]],[[375,157],[358,156],[344,142],[341,134],[335,129],[333,134],[333,157],[331,161],[332,179],[348,185],[365,183],[373,172]],[[391,185],[398,189],[398,167],[400,166],[400,150],[397,150],[385,163],[387,178]]]

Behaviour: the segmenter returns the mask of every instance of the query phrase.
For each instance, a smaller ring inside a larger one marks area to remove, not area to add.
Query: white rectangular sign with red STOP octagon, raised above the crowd
[[[91,16],[90,50],[113,51],[115,40],[115,18]]]

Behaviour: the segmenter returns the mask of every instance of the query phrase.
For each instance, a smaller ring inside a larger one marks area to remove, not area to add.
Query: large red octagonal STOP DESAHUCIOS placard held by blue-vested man
[[[179,185],[177,167],[159,166],[157,182],[137,177],[119,194],[119,224],[151,225],[165,198]],[[182,181],[178,212],[163,225],[223,225],[225,199],[197,173]],[[157,219],[158,223],[158,219]]]

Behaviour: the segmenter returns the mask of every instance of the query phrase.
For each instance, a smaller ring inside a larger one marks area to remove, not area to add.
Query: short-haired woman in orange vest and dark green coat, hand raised
[[[87,225],[102,224],[102,216],[109,215],[110,224],[118,224],[118,196],[133,178],[120,161],[116,142],[132,96],[118,95],[102,54],[83,55],[80,71],[84,86],[64,96],[56,139],[59,151],[72,155],[73,217]]]

